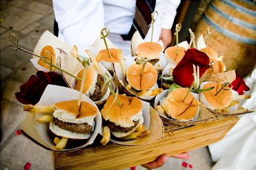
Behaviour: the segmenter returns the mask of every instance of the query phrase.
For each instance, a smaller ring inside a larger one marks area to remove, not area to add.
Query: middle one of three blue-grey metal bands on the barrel
[[[228,21],[231,21],[231,22],[234,23],[234,24],[237,24],[237,25],[242,26],[242,27],[246,27],[246,28],[248,28],[248,29],[256,30],[256,25],[249,24],[249,23],[244,22],[244,21],[242,21],[242,20],[240,20],[240,19],[238,19],[238,18],[235,18],[235,17],[232,17],[232,16],[230,16],[230,15],[227,15],[227,13],[225,13],[225,12],[219,10],[219,9],[217,8],[217,6],[215,6],[213,3],[210,4],[210,8],[211,8],[213,11],[219,13],[219,15],[221,15],[222,17],[226,18]]]

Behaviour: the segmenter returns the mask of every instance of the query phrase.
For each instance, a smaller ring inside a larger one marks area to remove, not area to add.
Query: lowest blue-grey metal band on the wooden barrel
[[[208,16],[205,13],[203,15],[203,19],[208,25],[212,25],[215,28],[215,30],[222,33],[224,36],[226,36],[228,38],[234,39],[238,42],[245,43],[245,44],[250,44],[250,45],[256,44],[256,40],[254,40],[254,39],[245,38],[245,37],[238,35],[237,33],[234,33],[232,31],[221,28],[217,23],[215,23],[214,21],[211,21],[211,19],[208,18]]]

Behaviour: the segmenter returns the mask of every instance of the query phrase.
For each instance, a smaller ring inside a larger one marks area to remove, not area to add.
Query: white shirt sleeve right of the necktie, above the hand
[[[180,0],[166,0],[165,3],[165,10],[161,16],[161,28],[171,29]]]

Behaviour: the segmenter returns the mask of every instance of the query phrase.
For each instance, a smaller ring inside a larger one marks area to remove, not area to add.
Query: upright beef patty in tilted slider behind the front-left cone
[[[105,86],[105,88],[103,89],[103,85],[104,85],[104,78],[101,74],[98,74],[97,83],[95,86],[95,92],[90,96],[90,98],[93,101],[100,100],[104,96],[104,94],[106,94],[107,86]]]

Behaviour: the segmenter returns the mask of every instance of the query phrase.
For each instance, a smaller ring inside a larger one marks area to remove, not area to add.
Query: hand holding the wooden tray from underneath
[[[178,159],[190,159],[190,154],[188,152],[176,154],[172,156],[173,158],[178,158]],[[147,164],[143,164],[142,166],[147,169],[154,169],[154,168],[159,168],[164,165],[164,163],[167,161],[169,157],[166,154],[161,155],[160,157],[157,158],[157,160],[153,162],[149,162]]]

